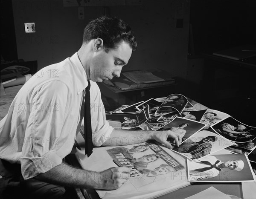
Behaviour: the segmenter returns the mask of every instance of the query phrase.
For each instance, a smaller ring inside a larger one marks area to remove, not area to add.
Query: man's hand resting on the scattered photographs
[[[177,145],[177,147],[180,146],[180,143],[182,142],[182,138],[179,133],[172,132],[171,130],[166,131],[155,131],[152,138],[155,141],[158,141],[162,144],[164,144],[167,148],[172,149],[172,144],[170,144],[167,141],[167,138],[173,138],[174,143]]]

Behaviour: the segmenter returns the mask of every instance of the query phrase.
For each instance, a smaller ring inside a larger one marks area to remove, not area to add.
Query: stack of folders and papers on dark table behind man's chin
[[[153,71],[133,70],[123,72],[119,78],[113,78],[111,81],[104,81],[104,83],[120,90],[130,90],[171,85],[175,84],[175,80],[170,78],[168,72],[154,69]]]

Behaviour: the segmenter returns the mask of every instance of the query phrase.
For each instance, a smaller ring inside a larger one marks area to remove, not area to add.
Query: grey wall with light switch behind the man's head
[[[106,9],[85,6],[84,20],[78,18],[78,6],[66,7],[63,0],[12,2],[18,58],[37,60],[38,69],[72,56],[81,46],[82,32],[89,20],[108,14],[125,20],[137,37],[138,49],[124,70],[160,68],[172,76],[186,78],[187,0],[122,1],[126,2],[124,6],[107,5]],[[180,19],[183,24],[177,27]],[[36,33],[24,33],[24,22],[35,22]]]

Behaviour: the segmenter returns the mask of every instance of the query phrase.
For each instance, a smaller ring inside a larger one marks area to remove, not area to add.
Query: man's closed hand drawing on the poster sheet
[[[111,167],[102,171],[98,189],[114,190],[121,187],[130,177],[130,169],[127,167]]]

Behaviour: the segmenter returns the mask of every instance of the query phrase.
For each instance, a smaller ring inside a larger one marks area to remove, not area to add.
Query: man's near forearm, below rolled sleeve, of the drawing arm
[[[102,188],[103,182],[101,173],[73,168],[64,163],[34,178],[55,185],[83,188]]]

